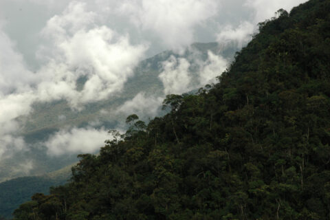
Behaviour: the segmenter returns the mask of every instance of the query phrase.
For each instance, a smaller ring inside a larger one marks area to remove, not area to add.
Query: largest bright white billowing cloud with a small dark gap
[[[88,12],[85,3],[74,1],[61,16],[47,22],[41,34],[52,41],[53,47],[50,54],[47,47],[39,51],[40,56],[49,59],[39,72],[44,76],[38,91],[41,100],[65,98],[78,107],[120,92],[133,75],[146,45],[131,45],[129,36],[95,25],[95,19],[96,14]],[[80,77],[87,80],[77,91],[76,80]]]

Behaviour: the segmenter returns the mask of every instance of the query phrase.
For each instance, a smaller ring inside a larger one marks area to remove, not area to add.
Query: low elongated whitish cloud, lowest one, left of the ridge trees
[[[107,131],[91,127],[78,129],[63,129],[52,135],[43,143],[47,147],[47,153],[53,156],[77,153],[95,153],[104,146]]]

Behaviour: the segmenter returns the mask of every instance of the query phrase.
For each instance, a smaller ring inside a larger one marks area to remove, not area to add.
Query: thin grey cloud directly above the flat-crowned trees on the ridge
[[[124,113],[126,116],[135,113],[140,119],[146,120],[157,115],[162,101],[162,97],[147,96],[142,92],[137,94],[132,100],[124,102],[116,112]]]

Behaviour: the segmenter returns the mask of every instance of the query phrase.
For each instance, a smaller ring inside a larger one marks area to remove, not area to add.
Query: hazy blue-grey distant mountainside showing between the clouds
[[[80,111],[71,109],[64,100],[34,103],[34,111],[30,115],[17,118],[22,124],[17,135],[24,137],[30,151],[16,153],[14,156],[0,161],[0,182],[25,175],[42,175],[76,162],[75,154],[61,155],[61,157],[48,155],[47,148],[42,145],[43,142],[47,141],[48,137],[56,131],[68,127],[93,126],[100,128],[104,126],[106,129],[113,129],[127,116],[126,113],[116,111],[124,102],[132,100],[140,92],[146,96],[164,96],[164,86],[159,79],[159,74],[163,71],[162,63],[167,61],[170,56],[185,58],[192,63],[196,59],[206,61],[208,51],[211,51],[230,60],[236,50],[233,45],[220,47],[218,43],[195,43],[181,55],[173,51],[162,52],[141,61],[135,68],[133,76],[124,85],[123,91],[107,100],[86,104]],[[191,69],[190,74],[194,78],[197,74],[196,69]],[[84,80],[80,79],[78,87],[83,87],[83,84]],[[199,85],[195,83],[193,89],[198,88]],[[96,123],[96,125],[91,125],[91,123]],[[25,162],[25,164],[20,165],[21,162]],[[30,166],[27,166],[26,163]],[[28,167],[30,170],[25,170]]]

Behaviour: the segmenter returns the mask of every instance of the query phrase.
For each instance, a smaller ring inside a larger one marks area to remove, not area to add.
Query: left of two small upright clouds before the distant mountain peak
[[[162,63],[163,72],[159,74],[164,85],[164,94],[182,94],[192,89],[190,87],[190,63],[185,58],[170,56]]]

